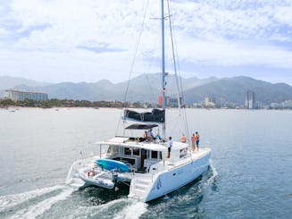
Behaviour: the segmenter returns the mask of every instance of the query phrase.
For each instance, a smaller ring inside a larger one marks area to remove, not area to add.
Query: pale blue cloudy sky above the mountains
[[[292,0],[173,0],[170,7],[167,72],[171,17],[182,77],[292,85]],[[121,82],[161,72],[160,10],[160,0],[0,0],[0,75]]]

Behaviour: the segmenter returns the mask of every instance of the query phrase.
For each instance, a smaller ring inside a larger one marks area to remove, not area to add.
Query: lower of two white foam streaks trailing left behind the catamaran
[[[21,209],[12,218],[36,218],[38,215],[42,215],[46,210],[50,209],[55,203],[68,198],[73,191],[72,188],[66,188],[59,195],[47,198],[35,206],[30,206],[28,209]]]

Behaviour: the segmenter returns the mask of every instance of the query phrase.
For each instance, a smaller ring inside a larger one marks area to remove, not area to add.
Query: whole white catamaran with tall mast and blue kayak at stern
[[[133,122],[125,127],[126,131],[131,131],[131,133],[138,131],[141,134],[144,131],[151,133],[150,131],[156,129],[158,130],[156,133],[159,133],[162,129],[162,136],[154,137],[147,133],[143,137],[123,134],[97,142],[97,155],[74,162],[68,173],[66,184],[79,189],[93,185],[113,190],[117,189],[120,183],[126,183],[129,185],[129,198],[148,202],[195,181],[208,169],[211,148],[200,148],[194,152],[188,143],[171,140],[170,144],[170,140],[165,137],[166,72],[163,0],[161,6],[162,109],[153,109],[146,113],[125,109],[122,119]],[[170,146],[171,154],[169,155],[168,147]]]

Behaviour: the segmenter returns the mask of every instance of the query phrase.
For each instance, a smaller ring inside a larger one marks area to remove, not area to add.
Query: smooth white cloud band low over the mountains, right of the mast
[[[213,63],[222,66],[268,65],[292,69],[291,51],[279,46],[261,44],[260,42],[229,42],[218,39],[214,41],[185,39],[186,44],[179,48],[179,57],[188,62]],[[191,55],[190,55],[191,54]]]

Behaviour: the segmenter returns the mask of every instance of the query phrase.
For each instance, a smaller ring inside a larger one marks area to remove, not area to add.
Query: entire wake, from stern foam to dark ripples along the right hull
[[[209,170],[197,181],[169,194],[167,198],[159,198],[150,206],[144,202],[138,202],[136,199],[125,198],[123,193],[119,193],[120,190],[118,191],[120,195],[115,195],[116,193],[98,190],[95,187],[89,187],[86,191],[74,191],[65,185],[55,185],[0,197],[0,218],[135,219],[156,208],[157,214],[159,214],[159,206],[165,205],[165,203],[168,203],[167,206],[184,206],[188,202],[199,204],[204,190],[216,187],[217,176],[218,173],[211,163]]]

